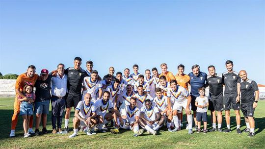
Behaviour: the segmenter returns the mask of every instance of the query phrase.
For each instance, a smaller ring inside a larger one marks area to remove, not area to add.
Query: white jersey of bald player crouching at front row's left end
[[[96,112],[96,107],[94,102],[90,102],[89,105],[85,104],[85,101],[79,101],[76,109],[79,110],[79,116],[83,119],[90,117],[92,112]]]

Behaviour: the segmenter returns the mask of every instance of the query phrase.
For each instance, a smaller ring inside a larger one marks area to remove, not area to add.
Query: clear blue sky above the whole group
[[[180,63],[186,74],[193,64],[223,73],[230,59],[265,84],[265,1],[0,0],[2,74],[70,67],[76,56],[101,76],[160,63],[174,74]]]

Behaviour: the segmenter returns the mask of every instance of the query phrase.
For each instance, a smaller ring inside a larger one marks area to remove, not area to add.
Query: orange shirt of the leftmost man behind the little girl
[[[19,89],[21,92],[23,91],[23,87],[25,86],[26,82],[32,83],[33,86],[35,85],[36,80],[38,79],[37,74],[34,74],[33,77],[27,77],[26,73],[21,74],[18,76],[16,80],[16,89]]]

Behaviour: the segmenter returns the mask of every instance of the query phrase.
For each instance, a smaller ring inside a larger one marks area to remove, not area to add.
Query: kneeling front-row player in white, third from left
[[[143,129],[139,130],[138,120],[140,117],[140,110],[136,107],[136,100],[134,97],[130,99],[130,105],[126,105],[124,109],[121,110],[121,115],[119,115],[117,122],[120,128],[131,129],[134,132],[135,137],[143,133]],[[114,129],[110,132],[116,133]]]

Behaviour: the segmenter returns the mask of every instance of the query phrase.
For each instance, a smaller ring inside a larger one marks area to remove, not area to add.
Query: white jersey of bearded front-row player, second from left
[[[95,107],[97,110],[97,114],[103,115],[103,114],[106,114],[107,110],[109,111],[113,108],[113,103],[110,100],[108,100],[106,104],[104,104],[103,99],[99,99],[96,101]]]

